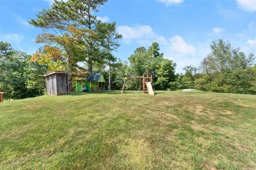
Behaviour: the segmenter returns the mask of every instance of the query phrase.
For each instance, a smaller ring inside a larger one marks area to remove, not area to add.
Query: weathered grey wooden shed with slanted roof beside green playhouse
[[[70,72],[53,71],[44,74],[46,77],[46,90],[50,96],[58,96],[68,94],[69,90],[69,74]]]

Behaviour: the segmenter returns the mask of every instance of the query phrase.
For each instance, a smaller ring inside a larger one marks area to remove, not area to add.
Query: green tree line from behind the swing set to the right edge
[[[229,42],[222,39],[212,41],[209,53],[199,66],[185,66],[184,74],[175,73],[176,63],[165,59],[160,53],[158,43],[146,49],[139,47],[127,62],[119,61],[121,67],[112,71],[112,86],[122,88],[125,76],[142,76],[149,69],[153,76],[153,88],[156,90],[197,89],[205,92],[256,94],[255,56],[247,57],[240,48],[232,48]],[[127,84],[128,89],[136,85]],[[132,87],[130,87],[132,86]]]

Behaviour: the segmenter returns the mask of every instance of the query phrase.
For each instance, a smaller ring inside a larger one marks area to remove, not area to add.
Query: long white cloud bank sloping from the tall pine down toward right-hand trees
[[[153,42],[158,42],[160,52],[164,53],[164,57],[177,64],[176,72],[182,72],[182,68],[186,65],[195,65],[200,62],[195,57],[198,55],[196,48],[186,43],[180,35],[166,39],[155,33],[149,25],[135,25],[134,27],[123,25],[118,26],[117,31],[123,35],[122,41],[130,45],[142,45],[147,48]]]

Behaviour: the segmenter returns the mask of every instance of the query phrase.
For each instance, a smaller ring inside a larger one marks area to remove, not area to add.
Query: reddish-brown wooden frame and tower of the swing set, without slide
[[[153,78],[152,78],[152,75],[148,75],[148,69],[146,69],[146,71],[144,72],[144,74],[143,74],[143,76],[130,76],[130,77],[125,77],[124,78],[124,84],[123,84],[123,88],[122,88],[122,92],[121,92],[121,94],[123,94],[124,93],[124,91],[125,91],[125,82],[126,82],[126,79],[128,79],[128,78],[130,78],[130,79],[135,79],[136,78],[136,80],[137,80],[137,78],[142,78],[142,91],[143,91],[143,93],[148,93],[148,89],[147,89],[147,86],[146,86],[146,82],[150,82],[151,83],[151,85],[152,85],[152,83],[153,83]],[[134,80],[134,82],[135,82],[135,80]],[[137,87],[137,82],[136,82],[136,87]]]

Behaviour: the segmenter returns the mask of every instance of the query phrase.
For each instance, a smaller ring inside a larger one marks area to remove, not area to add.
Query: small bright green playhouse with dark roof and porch
[[[76,81],[76,91],[82,92],[83,86],[86,86],[87,92],[103,92],[105,91],[105,79],[101,73],[92,73],[89,77]]]

